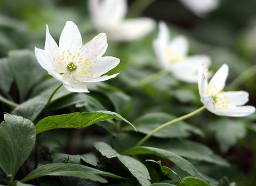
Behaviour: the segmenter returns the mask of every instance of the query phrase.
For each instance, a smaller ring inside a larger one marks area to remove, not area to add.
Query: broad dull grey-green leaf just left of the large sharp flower
[[[39,65],[32,50],[12,50],[9,61],[23,102],[29,90],[43,78],[46,71]]]

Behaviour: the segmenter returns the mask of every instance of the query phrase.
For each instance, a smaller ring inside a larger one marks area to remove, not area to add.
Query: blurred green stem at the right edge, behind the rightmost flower
[[[238,87],[240,84],[245,82],[247,79],[251,78],[256,74],[256,65],[251,66],[249,69],[245,70],[243,73],[238,75],[231,83],[229,83],[227,90],[232,90]]]

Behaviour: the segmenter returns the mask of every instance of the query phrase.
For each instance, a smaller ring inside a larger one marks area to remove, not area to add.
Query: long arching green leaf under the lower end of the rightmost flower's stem
[[[170,151],[154,148],[154,147],[135,147],[127,150],[124,155],[134,155],[134,154],[154,154],[161,157],[170,159],[175,165],[180,167],[183,171],[188,172],[190,175],[203,179],[209,182],[206,177],[199,173],[196,168],[188,162],[188,160],[178,156],[177,154],[171,153]]]

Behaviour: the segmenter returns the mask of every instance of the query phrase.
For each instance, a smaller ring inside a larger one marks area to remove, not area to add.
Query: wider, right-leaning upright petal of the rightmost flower
[[[220,69],[213,75],[210,84],[213,82],[217,90],[223,90],[225,87],[226,79],[228,77],[228,65],[223,64]]]

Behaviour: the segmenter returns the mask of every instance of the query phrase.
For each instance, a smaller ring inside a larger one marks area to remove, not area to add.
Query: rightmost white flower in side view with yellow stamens
[[[242,106],[249,100],[246,91],[222,91],[228,77],[228,65],[223,64],[207,83],[207,65],[203,63],[198,68],[198,89],[201,102],[206,109],[217,115],[232,117],[247,116],[255,112],[253,106]]]

